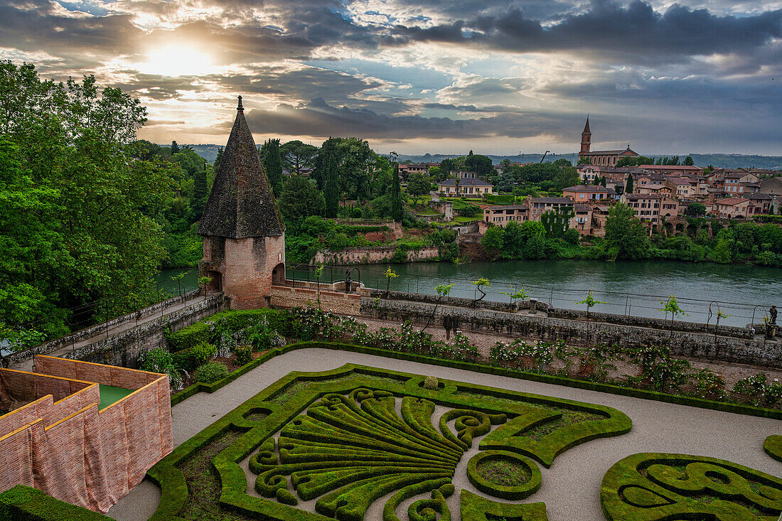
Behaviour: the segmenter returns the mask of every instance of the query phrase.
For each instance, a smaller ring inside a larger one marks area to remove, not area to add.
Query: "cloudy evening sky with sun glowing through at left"
[[[0,0],[0,59],[142,100],[153,142],[782,155],[782,0]]]

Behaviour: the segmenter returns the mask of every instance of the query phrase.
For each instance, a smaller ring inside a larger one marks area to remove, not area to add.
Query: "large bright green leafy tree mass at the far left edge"
[[[166,255],[156,216],[180,171],[134,159],[145,108],[94,77],[41,81],[9,61],[0,92],[0,322],[52,337],[74,307],[89,304],[89,323],[151,302]]]

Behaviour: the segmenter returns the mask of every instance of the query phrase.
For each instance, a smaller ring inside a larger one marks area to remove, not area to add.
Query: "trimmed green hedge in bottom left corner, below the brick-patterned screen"
[[[0,519],[13,521],[111,521],[87,508],[52,498],[33,487],[16,485],[0,494]]]

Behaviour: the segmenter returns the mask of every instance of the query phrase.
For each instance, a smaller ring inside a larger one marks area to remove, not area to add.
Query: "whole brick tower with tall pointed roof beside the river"
[[[272,283],[285,282],[285,224],[247,127],[239,96],[234,128],[203,217],[199,275],[212,278],[234,309],[266,307]]]

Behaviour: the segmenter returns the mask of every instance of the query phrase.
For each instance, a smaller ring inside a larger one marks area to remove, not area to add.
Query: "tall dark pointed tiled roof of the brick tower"
[[[253,134],[247,127],[242,96],[198,232],[230,239],[278,237],[285,232]]]

